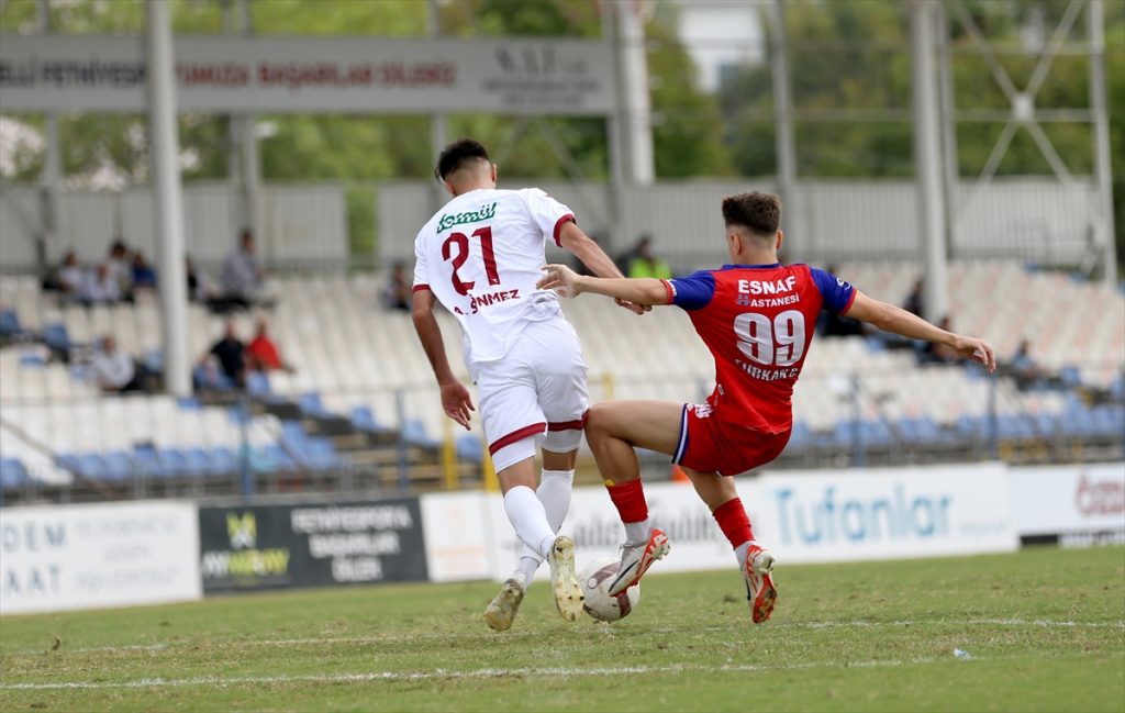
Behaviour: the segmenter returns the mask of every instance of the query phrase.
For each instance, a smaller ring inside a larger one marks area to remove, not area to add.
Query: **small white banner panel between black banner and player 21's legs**
[[[428,493],[420,499],[430,581],[489,577],[493,571],[488,561],[492,556],[488,548],[493,525],[492,496],[484,493]]]

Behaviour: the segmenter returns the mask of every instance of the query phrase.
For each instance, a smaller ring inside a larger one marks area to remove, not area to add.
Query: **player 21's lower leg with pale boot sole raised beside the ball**
[[[536,496],[536,459],[528,458],[496,473],[504,493],[504,512],[524,544],[551,567],[555,605],[567,621],[582,613],[582,587],[574,570],[574,540],[556,536],[547,522],[543,504]]]

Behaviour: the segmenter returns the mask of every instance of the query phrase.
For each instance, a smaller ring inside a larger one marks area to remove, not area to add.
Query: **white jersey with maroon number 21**
[[[414,241],[414,289],[431,290],[465,332],[471,365],[507,354],[531,322],[561,315],[550,290],[536,289],[546,241],[574,220],[538,188],[480,189],[439,210]]]

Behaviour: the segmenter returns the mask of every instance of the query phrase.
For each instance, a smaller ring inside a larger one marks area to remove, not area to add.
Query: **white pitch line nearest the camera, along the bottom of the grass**
[[[197,676],[192,678],[141,678],[119,682],[51,682],[0,684],[0,691],[60,691],[60,689],[96,689],[96,688],[178,688],[194,686],[242,686],[272,685],[291,683],[312,684],[353,684],[369,682],[415,682],[415,680],[454,680],[487,678],[580,678],[587,676],[622,676],[631,674],[681,674],[695,671],[754,673],[767,670],[794,670],[818,668],[894,668],[900,666],[934,664],[938,659],[918,658],[910,660],[870,660],[840,664],[839,661],[818,661],[793,664],[788,666],[727,665],[727,666],[620,666],[594,668],[482,668],[468,671],[371,671],[366,674],[324,674],[306,676]]]

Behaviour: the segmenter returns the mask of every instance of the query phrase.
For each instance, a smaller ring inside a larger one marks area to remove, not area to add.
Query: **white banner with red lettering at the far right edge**
[[[1012,468],[1012,512],[1028,543],[1125,543],[1125,463]]]

